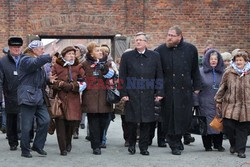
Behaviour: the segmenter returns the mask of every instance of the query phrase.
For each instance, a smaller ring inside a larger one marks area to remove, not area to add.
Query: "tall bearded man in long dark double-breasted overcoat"
[[[172,154],[181,155],[181,143],[192,119],[192,93],[199,93],[198,52],[184,42],[178,26],[168,30],[165,44],[155,49],[161,57],[165,98],[162,106],[163,130]]]

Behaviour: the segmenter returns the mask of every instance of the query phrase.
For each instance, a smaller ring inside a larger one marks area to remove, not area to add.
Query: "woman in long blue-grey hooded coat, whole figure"
[[[222,147],[223,135],[209,126],[216,116],[216,104],[214,96],[219,89],[219,84],[224,72],[223,59],[218,51],[210,49],[203,58],[203,66],[200,69],[202,89],[199,93],[199,106],[201,115],[207,118],[207,135],[202,136],[203,146],[206,151],[212,151],[212,146],[218,151],[224,151]]]

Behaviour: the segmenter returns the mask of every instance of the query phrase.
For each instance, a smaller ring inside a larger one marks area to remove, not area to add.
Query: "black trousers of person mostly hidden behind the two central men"
[[[162,131],[161,122],[152,122],[150,127],[149,142],[155,137],[155,128],[157,127],[157,144],[165,143],[166,134]]]

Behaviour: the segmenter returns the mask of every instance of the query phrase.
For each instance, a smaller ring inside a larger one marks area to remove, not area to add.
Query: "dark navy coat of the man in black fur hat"
[[[0,60],[0,94],[5,99],[6,113],[19,113],[17,102],[18,75],[16,62],[10,53]],[[0,99],[3,102],[3,99]]]

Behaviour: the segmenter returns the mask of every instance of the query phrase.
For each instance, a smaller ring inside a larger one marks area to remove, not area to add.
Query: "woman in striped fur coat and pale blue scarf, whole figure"
[[[250,129],[250,62],[246,51],[239,49],[233,55],[231,66],[225,71],[214,99],[223,117],[230,152],[246,158]]]

